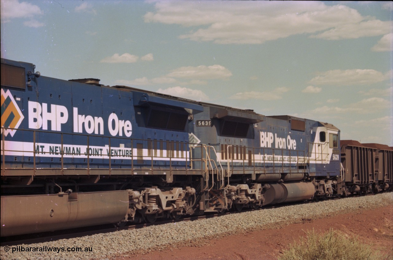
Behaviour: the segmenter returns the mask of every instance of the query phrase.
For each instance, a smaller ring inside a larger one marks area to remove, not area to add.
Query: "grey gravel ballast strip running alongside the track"
[[[302,219],[325,218],[340,212],[354,212],[359,209],[372,209],[391,204],[393,204],[393,193],[384,193],[262,209],[143,229],[122,230],[30,245],[13,245],[8,248],[0,247],[0,258],[3,260],[109,259],[116,255],[129,256],[180,244],[196,245],[203,243],[206,238],[241,233],[250,229],[266,229],[274,225],[300,222]],[[76,247],[81,248],[82,252],[68,251]],[[56,251],[53,252],[55,248]],[[18,252],[15,251],[17,249]],[[13,250],[15,252],[12,252]]]

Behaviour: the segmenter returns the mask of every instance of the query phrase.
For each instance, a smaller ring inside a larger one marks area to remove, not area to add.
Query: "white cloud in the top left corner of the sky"
[[[40,7],[18,0],[2,0],[0,2],[1,21],[9,22],[13,18],[33,18],[41,15]]]

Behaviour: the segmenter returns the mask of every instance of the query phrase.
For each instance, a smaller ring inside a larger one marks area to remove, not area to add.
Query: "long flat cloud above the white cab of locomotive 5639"
[[[314,85],[366,85],[373,84],[388,79],[388,74],[376,70],[329,70],[321,73],[309,81]]]

